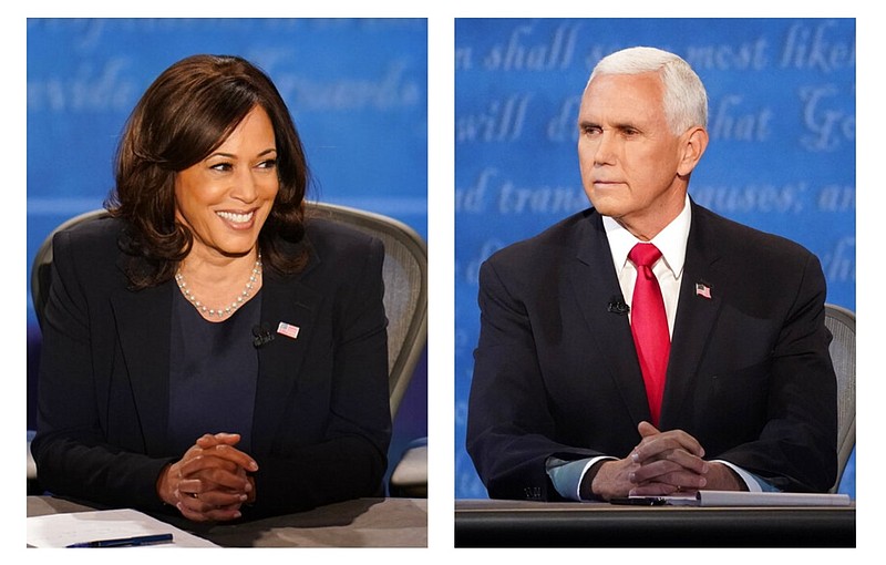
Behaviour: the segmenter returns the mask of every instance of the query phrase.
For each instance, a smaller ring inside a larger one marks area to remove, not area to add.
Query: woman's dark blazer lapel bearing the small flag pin
[[[305,286],[300,281],[301,276],[280,277],[268,273],[262,282],[261,323],[267,325],[275,339],[261,347],[258,355],[256,405],[261,410],[255,413],[253,420],[253,448],[256,453],[270,450],[279,417],[285,412],[298,380],[311,331],[317,327],[322,297]],[[279,333],[280,322],[296,326],[298,336],[291,338]]]

